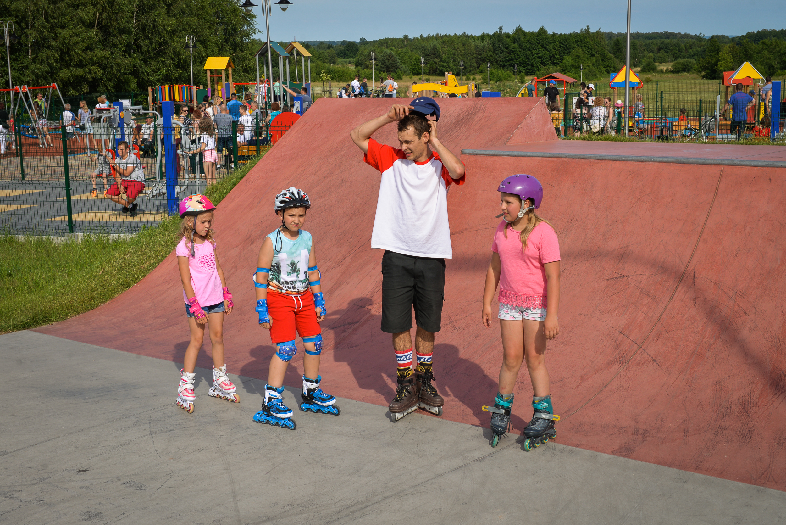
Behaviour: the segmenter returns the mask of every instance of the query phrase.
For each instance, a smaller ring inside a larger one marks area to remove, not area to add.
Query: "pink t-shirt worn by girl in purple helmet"
[[[527,237],[527,248],[522,252],[519,232],[508,229],[502,221],[494,233],[491,250],[499,254],[502,268],[499,278],[499,302],[528,308],[546,307],[546,262],[560,260],[560,243],[554,229],[545,222],[538,223]]]

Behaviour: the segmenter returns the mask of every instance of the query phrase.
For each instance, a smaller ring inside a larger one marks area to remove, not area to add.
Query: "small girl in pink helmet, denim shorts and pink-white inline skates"
[[[174,255],[178,258],[180,280],[183,283],[185,316],[189,320],[191,342],[185,349],[177,403],[188,413],[194,411],[194,367],[204,339],[204,325],[210,329],[213,345],[213,386],[208,395],[241,402],[235,392],[237,388],[226,376],[222,328],[224,315],[230,314],[233,304],[219,258],[215,255],[215,239],[211,229],[213,210],[215,206],[204,195],[190,195],[180,202],[180,216],[183,219],[180,231],[183,238],[174,249]]]

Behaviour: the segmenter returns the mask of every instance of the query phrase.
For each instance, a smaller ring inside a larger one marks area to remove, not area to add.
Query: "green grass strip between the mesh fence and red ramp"
[[[218,204],[261,158],[206,190]],[[180,218],[124,240],[0,237],[0,333],[62,321],[106,303],[158,266],[179,242]]]

